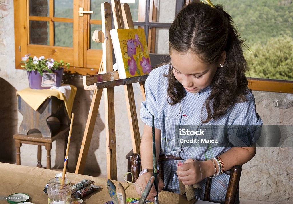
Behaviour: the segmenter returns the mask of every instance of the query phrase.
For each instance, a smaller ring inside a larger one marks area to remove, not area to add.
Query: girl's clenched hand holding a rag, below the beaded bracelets
[[[178,179],[184,185],[192,185],[200,182],[205,177],[202,175],[201,162],[193,159],[188,159],[182,165],[177,167]]]

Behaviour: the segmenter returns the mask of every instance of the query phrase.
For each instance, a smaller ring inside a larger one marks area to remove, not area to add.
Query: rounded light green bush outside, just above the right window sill
[[[265,45],[253,44],[246,52],[248,76],[293,80],[293,38],[282,35],[270,38]]]

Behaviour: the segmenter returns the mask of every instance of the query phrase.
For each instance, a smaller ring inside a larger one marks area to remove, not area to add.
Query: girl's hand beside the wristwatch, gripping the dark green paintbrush
[[[142,189],[142,193],[144,192],[145,187],[147,186],[147,182],[149,182],[149,179],[153,176],[153,172],[147,172],[139,176],[139,178],[136,180],[135,184],[139,185],[139,187]],[[158,179],[158,191],[161,192],[164,188],[164,182],[160,178],[159,175],[157,175]],[[141,195],[141,192],[138,188],[138,186],[135,186],[136,192]],[[151,187],[151,191],[149,192],[149,195],[147,197],[148,200],[154,201],[154,196],[156,196],[157,192],[154,187],[154,185]]]

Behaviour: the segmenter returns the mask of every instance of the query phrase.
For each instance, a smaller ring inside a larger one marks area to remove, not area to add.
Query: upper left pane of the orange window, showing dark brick
[[[49,0],[30,0],[30,16],[49,16]]]

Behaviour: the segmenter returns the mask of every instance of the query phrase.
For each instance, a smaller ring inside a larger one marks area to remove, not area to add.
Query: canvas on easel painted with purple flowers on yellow
[[[144,29],[110,30],[119,78],[147,75],[151,62]]]

